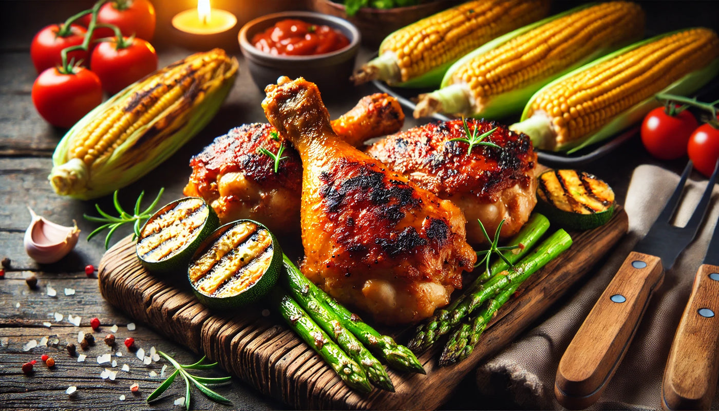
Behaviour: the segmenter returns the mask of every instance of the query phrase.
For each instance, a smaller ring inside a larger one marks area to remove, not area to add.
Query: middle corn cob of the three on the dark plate
[[[641,38],[644,12],[612,1],[580,6],[487,42],[459,59],[414,117],[436,112],[497,118],[520,112],[546,83]]]

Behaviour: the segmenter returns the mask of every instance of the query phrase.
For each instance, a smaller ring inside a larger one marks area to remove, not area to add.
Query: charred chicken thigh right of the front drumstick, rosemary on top
[[[451,200],[467,218],[467,240],[486,243],[477,219],[490,233],[505,220],[501,238],[516,234],[536,205],[536,153],[529,137],[496,122],[468,119],[477,135],[498,127],[485,141],[501,149],[449,141],[467,137],[461,119],[436,122],[390,135],[373,144],[369,155],[442,199]]]

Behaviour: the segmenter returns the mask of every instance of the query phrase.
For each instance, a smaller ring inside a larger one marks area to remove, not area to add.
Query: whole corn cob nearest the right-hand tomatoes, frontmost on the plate
[[[719,37],[695,28],[638,42],[547,84],[521,122],[537,148],[572,153],[641,120],[657,93],[692,94],[719,73]]]

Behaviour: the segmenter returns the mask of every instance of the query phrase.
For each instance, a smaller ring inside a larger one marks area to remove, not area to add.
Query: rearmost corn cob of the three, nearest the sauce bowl
[[[549,0],[468,1],[388,35],[379,57],[362,66],[352,80],[438,86],[444,71],[462,55],[548,12]]]

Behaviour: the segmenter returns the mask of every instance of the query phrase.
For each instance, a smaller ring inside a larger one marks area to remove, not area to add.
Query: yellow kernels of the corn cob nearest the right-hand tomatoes
[[[526,117],[540,111],[553,117],[557,144],[562,145],[599,130],[615,115],[704,68],[715,58],[719,58],[719,37],[715,32],[703,28],[677,32],[540,91]]]

